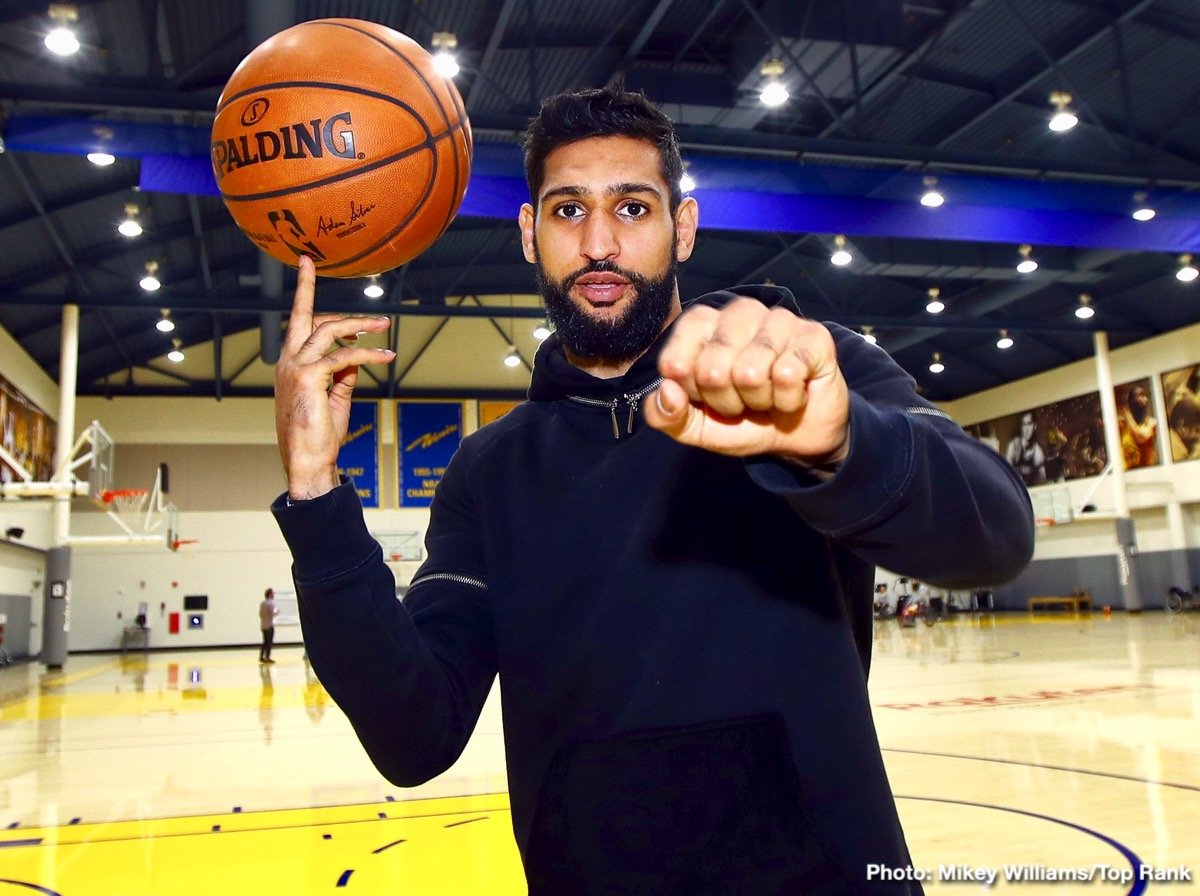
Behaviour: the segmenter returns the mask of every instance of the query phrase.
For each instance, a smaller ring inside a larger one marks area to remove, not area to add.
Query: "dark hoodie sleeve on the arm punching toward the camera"
[[[737,293],[797,311],[786,289]],[[719,305],[728,295],[697,301]],[[883,349],[838,324],[826,326],[850,387],[850,455],[823,482],[773,457],[748,459],[751,477],[816,530],[894,572],[946,588],[1015,578],[1033,554],[1034,530],[1016,471],[918,396]]]

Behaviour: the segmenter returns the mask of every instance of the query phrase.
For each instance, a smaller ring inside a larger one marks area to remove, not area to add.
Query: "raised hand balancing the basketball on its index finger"
[[[300,259],[288,335],[275,366],[275,433],[288,477],[288,495],[316,498],[337,486],[337,452],[350,422],[359,365],[388,363],[396,353],[337,345],[359,333],[382,332],[388,318],[313,317],[317,270]]]

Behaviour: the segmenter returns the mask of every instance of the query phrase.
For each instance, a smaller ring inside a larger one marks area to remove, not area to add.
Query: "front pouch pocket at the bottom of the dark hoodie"
[[[532,896],[851,892],[774,714],[563,748],[526,873]]]

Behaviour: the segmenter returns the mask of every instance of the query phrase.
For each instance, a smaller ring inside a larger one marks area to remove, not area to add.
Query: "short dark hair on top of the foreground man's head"
[[[671,190],[671,212],[679,208],[683,193],[683,158],[671,119],[643,94],[620,85],[557,94],[544,101],[529,121],[524,139],[526,182],[534,208],[546,179],[546,156],[559,146],[589,137],[632,137],[659,150],[659,170]]]

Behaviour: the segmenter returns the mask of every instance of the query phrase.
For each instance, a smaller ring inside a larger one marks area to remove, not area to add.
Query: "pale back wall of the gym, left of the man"
[[[151,647],[258,643],[263,590],[292,590],[292,558],[268,510],[284,487],[274,414],[269,398],[79,399],[80,425],[98,420],[113,437],[119,487],[148,487],[154,463],[170,459],[179,534],[198,543],[178,553],[157,546],[77,546],[72,551],[71,650],[118,648],[121,629],[142,601],[150,609]],[[475,416],[468,408],[466,432],[475,428]],[[380,415],[380,439],[385,446],[395,443],[389,414]],[[395,493],[388,485],[394,480],[385,464],[382,494]],[[373,533],[415,531],[424,542],[428,511],[368,510],[366,519]],[[84,506],[73,513],[71,531],[90,536],[120,530],[106,515]],[[389,563],[398,584],[407,584],[419,565]],[[208,596],[203,629],[187,627],[186,595]],[[172,612],[181,614],[176,635],[168,632]],[[278,626],[275,637],[276,643],[299,642],[300,630]]]

